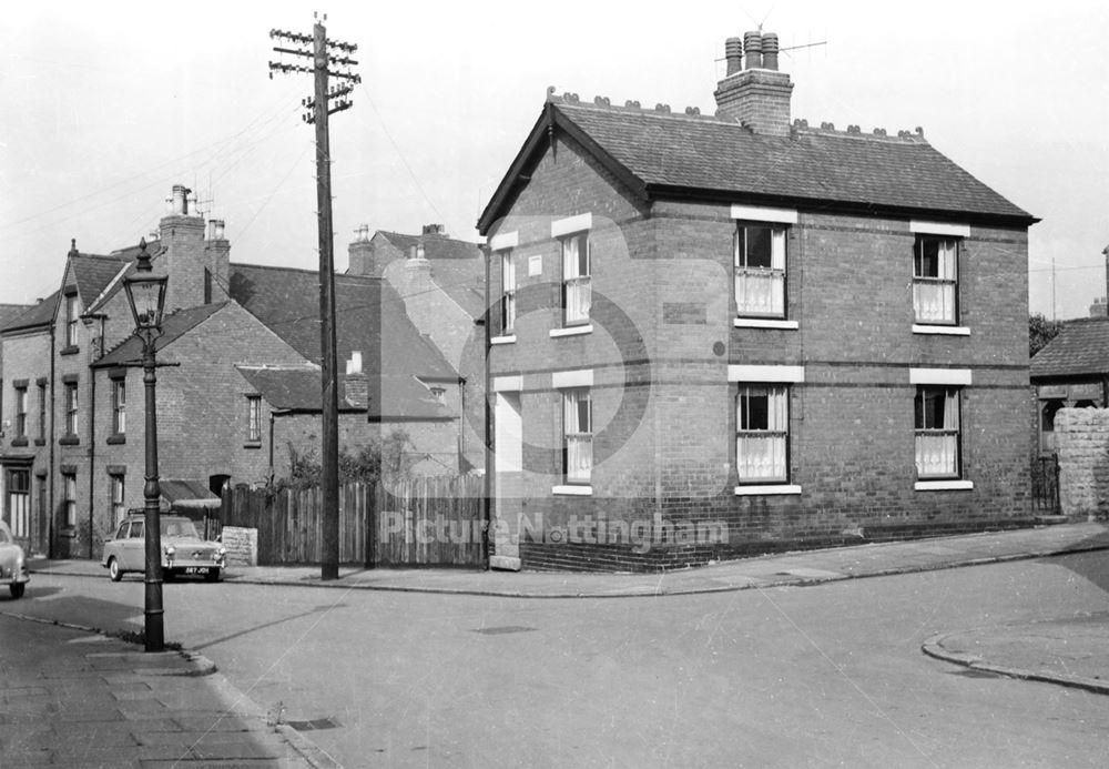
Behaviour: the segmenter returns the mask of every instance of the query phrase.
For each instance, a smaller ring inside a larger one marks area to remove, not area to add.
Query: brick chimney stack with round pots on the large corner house
[[[746,68],[740,60],[746,52]],[[743,42],[729,38],[724,43],[728,70],[716,83],[716,117],[734,120],[754,133],[790,135],[790,75],[777,71],[779,42],[773,32],[746,32]]]

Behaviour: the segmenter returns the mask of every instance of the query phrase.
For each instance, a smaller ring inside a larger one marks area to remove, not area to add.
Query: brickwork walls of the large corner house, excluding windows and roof
[[[908,221],[801,211],[788,233],[786,301],[798,327],[735,327],[729,204],[659,201],[648,216],[572,143],[560,140],[556,150],[489,233],[519,239],[517,341],[495,346],[490,360],[495,377],[520,376],[525,431],[525,470],[508,484],[522,499],[495,507],[533,527],[541,520],[545,530],[606,520],[645,526],[661,540],[644,548],[627,537],[523,536],[526,567],[672,567],[1030,522],[1024,229],[971,227],[959,265],[959,323],[969,335],[924,334],[913,330]],[[593,332],[552,338],[561,318],[550,222],[586,212]],[[531,256],[541,259],[539,276],[528,275]],[[492,297],[499,277],[492,271]],[[790,398],[790,484],[800,494],[733,492],[730,364],[804,366]],[[551,377],[577,368],[592,370],[594,381],[591,496],[552,494],[561,415]],[[970,371],[962,394],[969,488],[915,487],[912,368]],[[726,540],[695,536],[711,523],[726,528]],[[694,536],[682,536],[690,526]]]

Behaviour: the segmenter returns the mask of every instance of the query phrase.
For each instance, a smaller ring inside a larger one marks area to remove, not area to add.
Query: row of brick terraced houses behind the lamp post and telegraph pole
[[[291,443],[318,451],[319,279],[232,264],[222,222],[205,225],[180,185],[169,202],[149,249],[170,277],[157,341],[159,363],[169,364],[157,370],[159,470],[174,482],[164,502],[187,506],[170,492],[265,483],[287,469]],[[82,254],[74,244],[58,293],[0,330],[2,417],[20,427],[0,443],[0,475],[18,476],[9,506],[27,519],[32,549],[54,557],[99,557],[114,522],[143,505],[141,346],[122,290],[138,253]],[[337,352],[349,362],[340,437],[357,448],[383,425],[410,427],[417,472],[457,467],[457,412],[410,386],[419,376],[457,381],[454,368],[380,279],[337,276],[336,307]]]

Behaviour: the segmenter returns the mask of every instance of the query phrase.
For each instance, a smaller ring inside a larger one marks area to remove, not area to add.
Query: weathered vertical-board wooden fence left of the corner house
[[[481,566],[484,482],[427,476],[339,486],[339,563]],[[319,488],[224,493],[220,526],[258,532],[258,565],[321,563]]]

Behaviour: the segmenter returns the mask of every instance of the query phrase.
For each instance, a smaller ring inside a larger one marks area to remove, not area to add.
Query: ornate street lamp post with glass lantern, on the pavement
[[[165,636],[162,623],[162,529],[159,520],[157,417],[154,413],[154,342],[162,335],[167,275],[154,275],[146,253],[146,239],[139,243],[135,272],[123,281],[128,303],[135,320],[135,336],[142,340],[142,381],[146,391],[146,595],[144,604],[146,651],[162,651]]]

